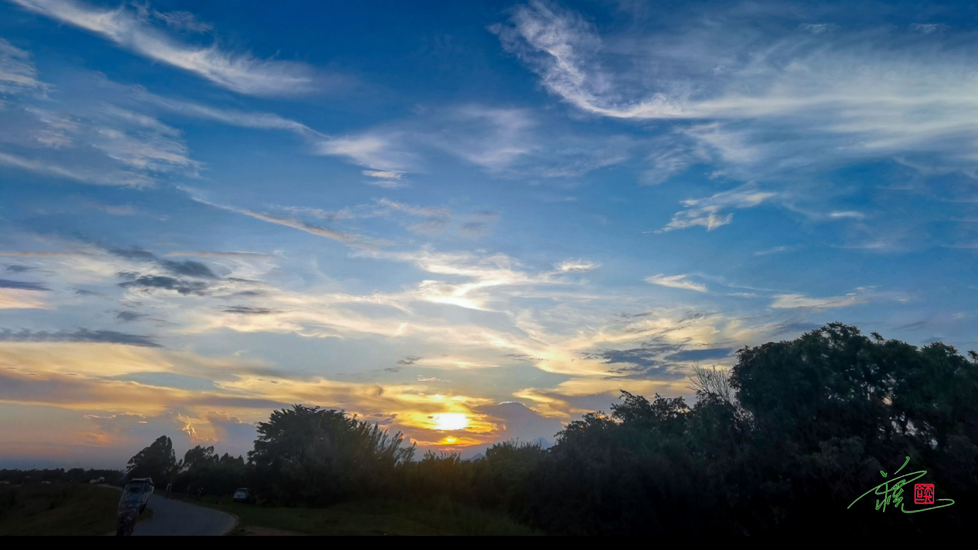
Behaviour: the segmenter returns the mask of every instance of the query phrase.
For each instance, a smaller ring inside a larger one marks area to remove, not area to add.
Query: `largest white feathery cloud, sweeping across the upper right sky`
[[[974,36],[950,37],[932,23],[912,24],[911,34],[793,23],[804,8],[764,23],[736,8],[686,12],[682,21],[663,12],[618,30],[534,1],[489,29],[575,109],[667,124],[672,139],[650,155],[663,175],[651,183],[697,161],[778,185],[859,160],[978,170],[978,102],[968,93],[978,81],[969,69]],[[636,32],[643,23],[655,31]]]

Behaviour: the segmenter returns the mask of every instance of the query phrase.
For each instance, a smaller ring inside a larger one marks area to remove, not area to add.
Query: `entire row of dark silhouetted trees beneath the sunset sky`
[[[387,497],[505,510],[561,534],[945,532],[978,516],[978,354],[828,324],[746,346],[733,368],[694,369],[695,400],[621,391],[554,446],[505,441],[485,457],[427,452],[342,411],[294,405],[258,425],[248,464],[190,449],[178,483],[255,488],[265,501],[325,505]],[[853,499],[911,457],[940,498],[924,514]],[[173,471],[166,437],[129,473]],[[215,492],[215,494],[224,494]]]

